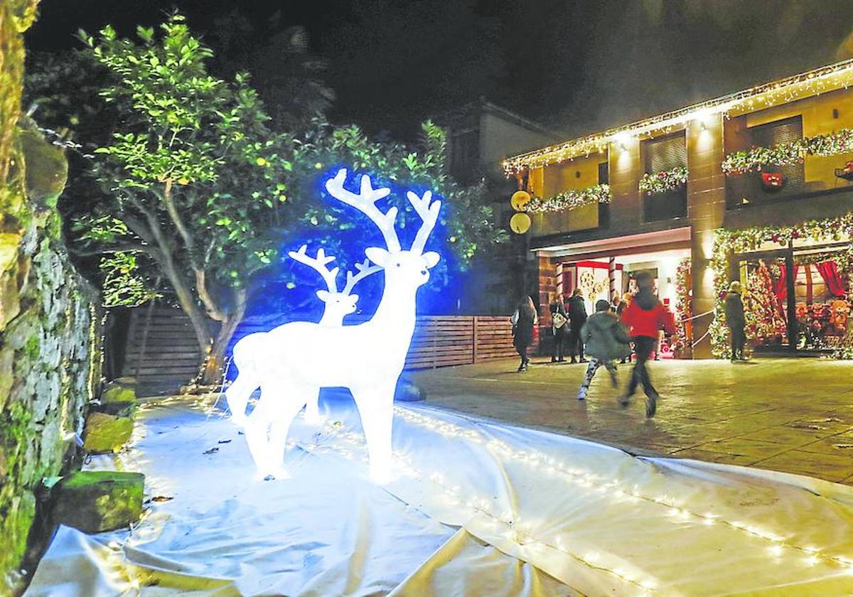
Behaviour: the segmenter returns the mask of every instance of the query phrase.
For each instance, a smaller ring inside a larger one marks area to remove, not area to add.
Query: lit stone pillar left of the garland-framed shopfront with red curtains
[[[720,169],[724,157],[722,114],[712,114],[687,125],[688,217],[693,228],[691,261],[693,268],[693,314],[714,309],[714,277],[711,253],[715,230],[726,215],[726,180]],[[713,315],[693,321],[693,342],[701,338]],[[705,336],[694,348],[694,358],[711,357],[711,339]]]

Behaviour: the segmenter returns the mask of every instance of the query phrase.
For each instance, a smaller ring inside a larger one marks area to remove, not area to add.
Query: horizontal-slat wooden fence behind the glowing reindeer
[[[237,328],[235,339],[276,325],[275,320],[248,320]],[[515,354],[508,316],[419,316],[406,368],[469,365]],[[197,373],[199,362],[195,333],[183,311],[149,305],[132,311],[123,375],[141,382],[183,383]]]

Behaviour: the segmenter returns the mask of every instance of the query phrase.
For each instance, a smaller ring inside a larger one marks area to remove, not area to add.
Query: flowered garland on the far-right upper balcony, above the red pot
[[[728,154],[722,160],[727,175],[761,171],[765,165],[800,164],[806,155],[838,155],[853,152],[853,129],[777,143],[771,148],[754,147]]]

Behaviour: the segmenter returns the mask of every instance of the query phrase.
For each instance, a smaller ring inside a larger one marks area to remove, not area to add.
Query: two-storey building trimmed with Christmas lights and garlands
[[[647,271],[683,322],[664,356],[726,354],[733,280],[757,351],[849,343],[851,83],[842,61],[505,159],[532,195],[543,324],[556,293],[591,308]]]

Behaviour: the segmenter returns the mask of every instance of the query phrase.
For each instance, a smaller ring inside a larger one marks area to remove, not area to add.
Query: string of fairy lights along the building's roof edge
[[[515,155],[503,161],[503,171],[507,177],[511,177],[533,168],[605,152],[612,142],[618,143],[620,140],[624,142],[630,137],[667,134],[682,129],[692,120],[705,119],[714,114],[722,114],[728,118],[739,113],[773,107],[780,103],[817,96],[828,91],[847,89],[851,83],[853,83],[853,59],[801,72],[771,83],[756,85],[728,96],[702,101],[630,125]]]

